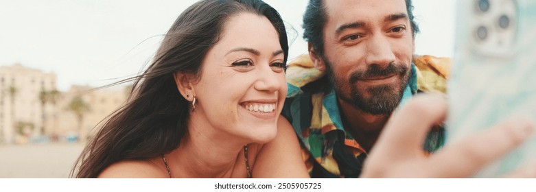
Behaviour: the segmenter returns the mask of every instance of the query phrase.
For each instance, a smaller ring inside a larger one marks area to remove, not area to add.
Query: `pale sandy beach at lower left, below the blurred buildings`
[[[0,178],[68,178],[84,145],[0,145]]]

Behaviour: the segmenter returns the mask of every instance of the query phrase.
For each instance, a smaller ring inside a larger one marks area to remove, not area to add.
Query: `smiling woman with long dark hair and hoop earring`
[[[296,135],[279,118],[287,57],[286,30],[270,5],[198,1],[178,16],[150,67],[125,80],[135,80],[127,104],[104,122],[72,173],[307,177]]]

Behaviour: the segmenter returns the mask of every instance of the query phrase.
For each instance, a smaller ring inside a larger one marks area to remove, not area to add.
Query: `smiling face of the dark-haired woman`
[[[283,58],[279,36],[265,16],[231,16],[194,84],[192,117],[198,122],[192,125],[246,142],[274,139],[287,93]]]

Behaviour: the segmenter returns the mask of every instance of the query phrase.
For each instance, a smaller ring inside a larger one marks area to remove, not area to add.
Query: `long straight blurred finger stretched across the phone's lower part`
[[[533,132],[530,119],[510,119],[494,128],[447,145],[429,158],[435,173],[441,177],[465,178],[474,175],[491,161],[525,141]]]

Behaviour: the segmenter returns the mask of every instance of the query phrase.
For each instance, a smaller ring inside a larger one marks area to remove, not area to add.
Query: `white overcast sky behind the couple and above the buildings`
[[[0,66],[56,73],[58,88],[102,86],[139,73],[162,35],[194,0],[1,0]],[[307,0],[266,0],[288,29],[290,57],[306,52],[301,17]],[[452,57],[454,2],[414,0],[420,55]]]

